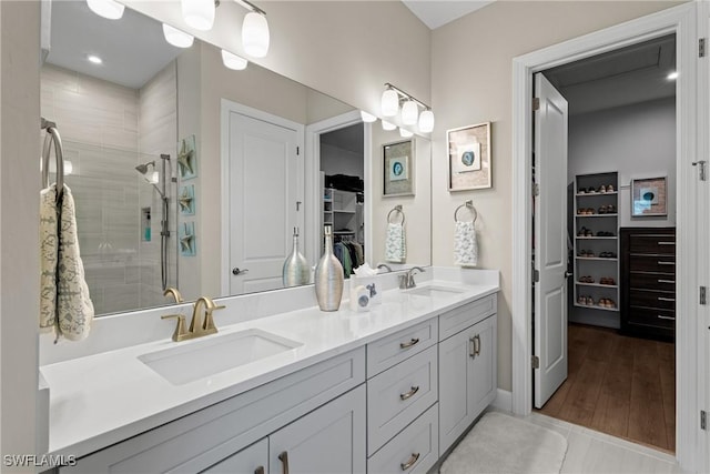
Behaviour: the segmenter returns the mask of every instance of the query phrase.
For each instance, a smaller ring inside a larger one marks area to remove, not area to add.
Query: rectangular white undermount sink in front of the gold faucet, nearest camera
[[[138,359],[168,382],[182,385],[303,345],[256,329],[176,344]]]

